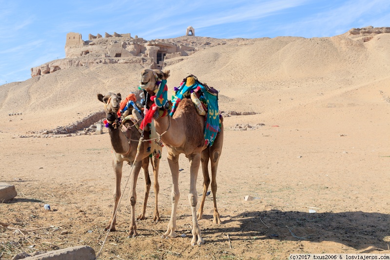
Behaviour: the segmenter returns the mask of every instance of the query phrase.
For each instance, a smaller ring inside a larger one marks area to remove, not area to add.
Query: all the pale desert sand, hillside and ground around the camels
[[[182,156],[180,236],[160,238],[169,222],[172,185],[163,150],[162,221],[150,218],[151,192],[149,218],[137,221],[140,236],[127,238],[127,188],[118,231],[109,234],[99,259],[390,253],[390,34],[366,42],[346,35],[224,41],[169,59],[164,67],[171,70],[170,91],[194,74],[220,91],[219,108],[231,115],[224,117],[217,174],[222,224],[213,224],[212,196],[207,197],[199,221],[206,243],[190,245],[189,164]],[[100,250],[114,202],[108,131],[71,137],[40,133],[102,111],[98,93],[137,91],[142,69],[139,64],[75,67],[0,86],[0,181],[18,192],[0,203],[0,222],[20,229],[0,226],[1,259],[83,244]],[[122,189],[129,174],[125,165]],[[199,173],[199,195],[202,181]],[[140,174],[138,214],[143,193]],[[254,200],[245,201],[247,195]],[[44,210],[46,203],[51,211]],[[31,229],[37,230],[23,231]]]

